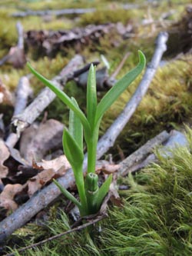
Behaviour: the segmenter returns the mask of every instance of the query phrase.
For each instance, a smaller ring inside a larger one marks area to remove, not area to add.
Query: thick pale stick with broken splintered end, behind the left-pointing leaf
[[[71,75],[79,65],[83,64],[83,58],[81,55],[75,55],[71,59],[71,62],[68,63],[65,68],[63,68],[59,75],[55,76],[51,81],[60,89],[64,88],[64,85],[68,81],[68,75]],[[62,82],[62,85],[61,85]],[[54,92],[49,88],[44,88],[37,98],[25,108],[25,111],[22,114],[15,115],[13,117],[12,124],[17,131],[18,137],[21,132],[25,130],[29,125],[31,125],[36,118],[41,114],[42,111],[56,98]]]

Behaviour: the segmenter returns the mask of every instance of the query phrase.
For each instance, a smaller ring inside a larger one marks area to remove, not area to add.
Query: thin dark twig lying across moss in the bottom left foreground
[[[18,251],[18,252],[26,251],[26,250],[28,250],[28,249],[30,249],[30,248],[35,248],[35,247],[37,247],[37,246],[39,246],[39,245],[41,245],[41,244],[45,244],[45,243],[47,243],[48,241],[52,241],[52,240],[61,238],[62,236],[66,235],[66,234],[70,234],[70,233],[72,233],[72,232],[74,232],[74,231],[80,231],[80,230],[82,230],[82,229],[84,229],[84,228],[87,228],[88,226],[91,226],[92,224],[97,223],[98,221],[101,221],[102,219],[106,218],[106,216],[107,216],[106,214],[99,215],[97,218],[91,219],[91,221],[88,221],[88,222],[85,223],[85,224],[81,224],[81,225],[78,226],[77,228],[70,229],[70,230],[65,231],[65,232],[63,232],[63,233],[61,233],[61,234],[56,234],[55,236],[53,236],[53,237],[51,237],[51,238],[47,238],[47,239],[45,239],[45,240],[43,240],[43,241],[40,241],[40,242],[38,242],[38,243],[36,243],[36,244],[28,245],[28,246],[26,246],[25,248],[18,249],[17,251]],[[15,253],[11,253],[11,254],[5,254],[4,256],[14,256],[14,255],[15,255]]]

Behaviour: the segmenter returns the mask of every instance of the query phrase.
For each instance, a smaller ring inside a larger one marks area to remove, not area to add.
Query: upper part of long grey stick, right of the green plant
[[[154,56],[151,60],[151,63],[147,66],[147,70],[144,73],[140,85],[138,85],[137,90],[134,92],[134,95],[124,107],[124,110],[114,121],[111,127],[108,128],[108,131],[106,131],[104,136],[98,141],[98,159],[101,158],[101,156],[104,155],[104,153],[106,153],[106,151],[108,151],[108,149],[114,145],[114,141],[121,133],[127,122],[130,120],[137,106],[140,104],[142,98],[146,94],[147,89],[151,84],[152,79],[154,78],[155,72],[157,71],[158,65],[161,61],[161,57],[167,49],[167,38],[167,32],[161,32],[158,35]]]

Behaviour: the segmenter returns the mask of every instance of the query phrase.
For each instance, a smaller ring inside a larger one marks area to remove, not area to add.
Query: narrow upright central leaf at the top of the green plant
[[[88,72],[87,85],[87,115],[88,121],[92,128],[94,128],[94,118],[97,110],[97,88],[96,75],[94,65],[91,64]]]

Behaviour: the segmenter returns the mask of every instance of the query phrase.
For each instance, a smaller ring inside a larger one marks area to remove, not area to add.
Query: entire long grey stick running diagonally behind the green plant
[[[131,118],[131,115],[134,113],[137,105],[140,103],[141,98],[144,96],[144,93],[147,91],[147,88],[154,77],[154,73],[157,70],[158,64],[161,60],[163,52],[166,50],[165,43],[167,42],[167,33],[161,32],[157,38],[157,48],[154,52],[154,57],[152,58],[151,65],[148,66],[147,71],[144,74],[144,78],[141,81],[141,84],[137,88],[134,96],[131,98],[131,105],[128,103],[124,111],[121,113],[120,117],[116,119],[114,125],[111,125],[111,128],[108,129],[106,135],[104,135],[98,141],[98,155],[97,159],[101,158],[102,155],[108,148],[114,144],[115,138],[118,137],[122,128],[124,128],[124,118],[127,121],[127,115]],[[144,88],[143,88],[144,87]],[[136,102],[135,102],[136,101]],[[131,115],[130,115],[131,112]],[[128,118],[128,119],[129,119]],[[121,125],[121,122],[123,125]],[[106,141],[105,141],[106,139]],[[87,155],[84,158],[84,171],[87,167]],[[70,188],[71,185],[74,185],[74,175],[71,169],[69,169],[66,174],[58,178],[58,182],[65,187],[66,189]],[[5,218],[0,223],[0,243],[5,241],[5,239],[12,234],[16,229],[21,228],[26,222],[28,222],[38,211],[41,211],[43,208],[47,207],[51,201],[55,200],[58,195],[61,194],[58,187],[51,183],[46,188],[42,189],[32,196],[25,204],[18,208],[13,214]]]

